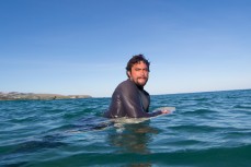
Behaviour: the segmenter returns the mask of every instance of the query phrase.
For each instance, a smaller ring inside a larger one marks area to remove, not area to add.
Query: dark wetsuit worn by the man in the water
[[[107,118],[142,118],[161,114],[149,114],[149,94],[128,79],[122,82],[114,91],[110,108],[104,116]]]

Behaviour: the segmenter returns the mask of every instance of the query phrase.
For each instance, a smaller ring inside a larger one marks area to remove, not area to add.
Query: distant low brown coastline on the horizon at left
[[[35,94],[35,93],[19,93],[19,92],[0,92],[0,100],[28,100],[28,99],[75,99],[75,98],[91,98],[90,95],[60,95],[60,94]]]

